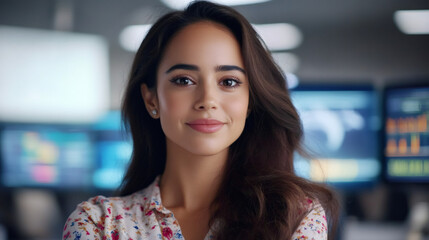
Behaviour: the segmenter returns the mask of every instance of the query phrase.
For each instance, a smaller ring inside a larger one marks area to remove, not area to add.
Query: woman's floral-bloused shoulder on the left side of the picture
[[[154,193],[159,192],[154,188],[152,184],[128,196],[96,196],[80,203],[64,225],[63,239],[99,239],[107,234],[140,231],[142,221],[149,221],[145,216],[154,207]]]

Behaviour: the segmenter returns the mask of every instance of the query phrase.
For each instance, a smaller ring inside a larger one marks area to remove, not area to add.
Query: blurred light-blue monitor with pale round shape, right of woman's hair
[[[375,182],[380,128],[378,94],[371,88],[308,88],[291,92],[311,158],[296,154],[297,175],[333,185]]]

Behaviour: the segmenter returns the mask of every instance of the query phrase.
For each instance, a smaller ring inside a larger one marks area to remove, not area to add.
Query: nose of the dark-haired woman
[[[216,86],[214,84],[201,84],[197,88],[197,100],[195,101],[195,110],[210,110],[217,109],[218,96],[216,94]]]

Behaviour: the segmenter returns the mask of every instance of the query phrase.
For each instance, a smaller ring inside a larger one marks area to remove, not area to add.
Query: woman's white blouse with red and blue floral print
[[[159,177],[147,188],[125,197],[97,196],[82,202],[67,219],[63,239],[184,240],[173,213],[161,203]],[[327,223],[319,203],[309,200],[309,214],[292,240],[325,240]],[[213,239],[209,231],[204,240]]]

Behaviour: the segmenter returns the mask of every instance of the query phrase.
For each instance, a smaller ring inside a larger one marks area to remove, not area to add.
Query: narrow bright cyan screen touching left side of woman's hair
[[[119,187],[132,155],[132,141],[121,130],[119,111],[108,112],[95,126],[96,163],[93,186],[114,190]]]

